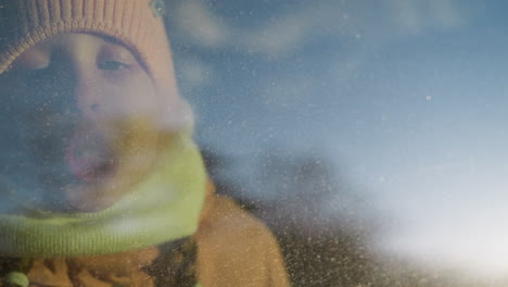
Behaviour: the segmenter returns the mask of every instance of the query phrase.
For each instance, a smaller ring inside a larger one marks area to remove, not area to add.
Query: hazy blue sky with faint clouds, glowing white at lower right
[[[391,219],[380,248],[499,274],[506,8],[189,0],[172,7],[169,33],[201,142],[241,157],[245,171],[271,147],[322,150]]]

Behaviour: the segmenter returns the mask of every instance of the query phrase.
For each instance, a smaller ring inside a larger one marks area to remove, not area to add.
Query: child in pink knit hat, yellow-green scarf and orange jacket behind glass
[[[0,0],[0,286],[289,286],[213,194],[161,5]]]

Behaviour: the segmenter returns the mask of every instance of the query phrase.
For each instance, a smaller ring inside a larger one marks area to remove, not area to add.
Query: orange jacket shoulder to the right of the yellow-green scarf
[[[198,232],[202,286],[290,286],[279,246],[268,228],[230,199],[212,197],[208,203]]]

